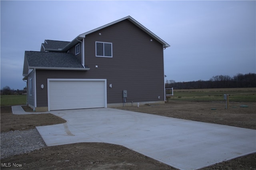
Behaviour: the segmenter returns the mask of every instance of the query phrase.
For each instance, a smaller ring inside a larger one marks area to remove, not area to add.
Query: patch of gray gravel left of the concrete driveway
[[[1,159],[44,147],[46,144],[35,128],[1,133]]]

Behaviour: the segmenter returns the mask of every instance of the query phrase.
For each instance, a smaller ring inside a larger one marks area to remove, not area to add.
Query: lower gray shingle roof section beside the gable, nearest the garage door
[[[84,68],[71,53],[25,51],[29,67]]]

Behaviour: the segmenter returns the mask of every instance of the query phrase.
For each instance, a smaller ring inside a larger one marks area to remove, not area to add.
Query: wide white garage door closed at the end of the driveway
[[[106,107],[104,80],[48,79],[48,110]]]

